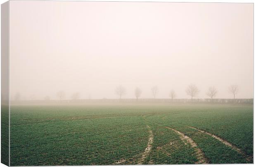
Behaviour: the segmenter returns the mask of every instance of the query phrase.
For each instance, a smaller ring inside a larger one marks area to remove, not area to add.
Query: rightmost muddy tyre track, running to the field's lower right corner
[[[187,126],[187,125],[186,125],[186,126]],[[231,144],[231,143],[228,142],[227,140],[222,139],[222,138],[220,138],[220,137],[218,137],[218,136],[216,136],[216,135],[213,135],[213,134],[211,134],[211,133],[209,133],[209,132],[206,132],[206,131],[204,131],[204,130],[195,128],[195,127],[193,127],[193,126],[187,126],[187,127],[192,128],[192,129],[194,129],[194,130],[198,130],[199,132],[205,133],[206,135],[209,135],[209,136],[211,136],[211,137],[217,139],[217,140],[220,141],[221,143],[223,143],[223,144],[225,144],[226,146],[229,146],[229,147],[231,147],[233,150],[237,151],[237,153],[243,155],[243,156],[246,158],[246,160],[247,160],[248,162],[253,162],[253,157],[252,157],[252,156],[248,156],[248,155],[247,155],[246,153],[244,153],[240,148],[237,148],[235,145]]]

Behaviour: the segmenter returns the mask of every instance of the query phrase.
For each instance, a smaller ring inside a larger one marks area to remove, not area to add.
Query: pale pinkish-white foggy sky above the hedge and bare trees
[[[10,95],[57,99],[253,97],[253,4],[10,1]]]

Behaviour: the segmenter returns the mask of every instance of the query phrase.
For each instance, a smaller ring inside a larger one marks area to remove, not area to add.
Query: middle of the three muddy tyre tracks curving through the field
[[[180,132],[168,126],[166,126],[165,128],[173,130],[174,132],[178,133],[180,135],[180,139],[185,144],[189,143],[192,146],[192,148],[194,148],[198,160],[196,164],[208,164],[208,160],[204,157],[203,151],[201,151],[201,149],[197,147],[197,144],[190,137],[186,136],[183,132]]]

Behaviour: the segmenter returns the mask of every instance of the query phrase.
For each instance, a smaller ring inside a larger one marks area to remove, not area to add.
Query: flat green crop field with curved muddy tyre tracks
[[[11,166],[252,163],[253,105],[21,105],[10,116]]]

